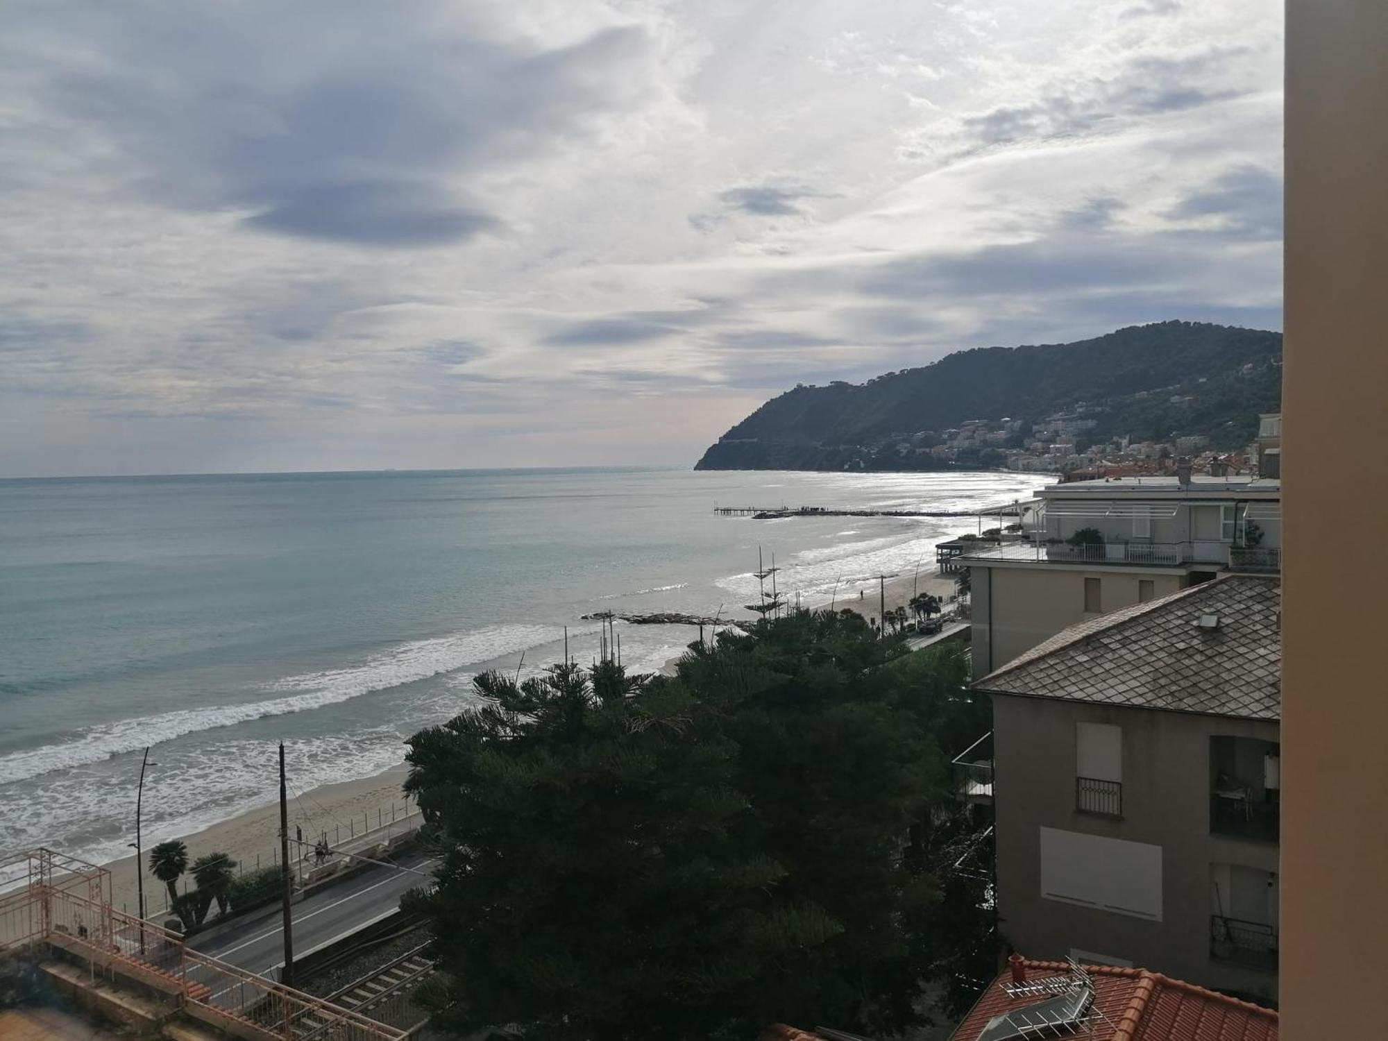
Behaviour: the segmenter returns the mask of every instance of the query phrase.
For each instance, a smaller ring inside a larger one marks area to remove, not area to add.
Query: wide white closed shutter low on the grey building
[[[1162,847],[1041,829],[1041,897],[1162,920]]]

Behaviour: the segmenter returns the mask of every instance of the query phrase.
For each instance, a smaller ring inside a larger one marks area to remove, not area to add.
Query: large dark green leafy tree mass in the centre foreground
[[[948,755],[988,729],[955,650],[852,611],[694,644],[677,675],[554,666],[475,682],[409,741],[437,888],[436,1023],[532,1041],[890,1033],[920,985],[991,973],[984,822]],[[947,897],[948,899],[942,899]]]

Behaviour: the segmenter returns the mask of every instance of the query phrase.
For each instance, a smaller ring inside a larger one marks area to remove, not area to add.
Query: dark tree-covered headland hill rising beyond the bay
[[[1058,412],[1094,421],[1094,441],[1205,436],[1216,448],[1241,448],[1258,414],[1281,407],[1281,333],[1203,322],[958,351],[861,384],[797,386],[723,434],[695,469],[960,468],[920,448],[970,419],[1004,418],[1020,448],[1033,425]],[[904,443],[916,451],[901,451]]]

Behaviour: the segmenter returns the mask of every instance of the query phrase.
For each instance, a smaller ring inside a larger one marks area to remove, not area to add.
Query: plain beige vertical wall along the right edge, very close
[[[1388,3],[1287,15],[1281,1035],[1385,1037]],[[1348,566],[1327,516],[1371,518]]]

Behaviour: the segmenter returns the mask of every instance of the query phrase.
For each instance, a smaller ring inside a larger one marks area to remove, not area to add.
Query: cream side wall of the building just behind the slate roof
[[[974,566],[973,677],[1001,669],[1023,651],[1030,651],[1066,626],[1094,618],[1084,609],[1084,580],[1099,580],[1103,613],[1138,602],[1138,583],[1152,582],[1152,595],[1165,597],[1190,584],[1184,572],[1145,572],[1113,566],[1085,570],[1058,564],[1035,568]]]

